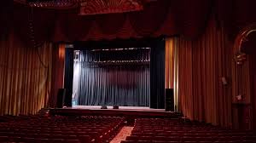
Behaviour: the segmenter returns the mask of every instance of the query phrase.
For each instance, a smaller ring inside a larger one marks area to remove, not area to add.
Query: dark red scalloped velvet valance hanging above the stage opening
[[[25,38],[31,31],[40,41],[88,41],[182,34],[197,37],[204,31],[212,3],[196,0],[160,0],[147,3],[143,11],[81,16],[79,8],[40,9],[15,3],[15,27]],[[26,39],[25,39],[26,40]],[[28,41],[28,40],[26,40]]]

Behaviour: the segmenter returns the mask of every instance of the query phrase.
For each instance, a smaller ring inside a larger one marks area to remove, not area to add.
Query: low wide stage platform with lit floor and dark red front
[[[119,109],[113,109],[113,106],[107,106],[108,109],[101,109],[101,107],[102,106],[73,106],[67,108],[52,108],[49,110],[49,114],[62,116],[121,116],[129,118],[180,117],[179,113],[166,112],[165,109],[151,109],[141,106],[119,106]]]

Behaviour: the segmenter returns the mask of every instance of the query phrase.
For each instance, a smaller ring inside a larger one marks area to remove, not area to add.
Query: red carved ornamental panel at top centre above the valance
[[[86,0],[80,3],[80,14],[112,14],[143,10],[142,0]]]

